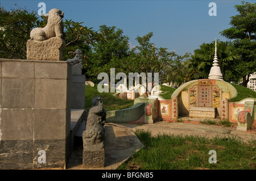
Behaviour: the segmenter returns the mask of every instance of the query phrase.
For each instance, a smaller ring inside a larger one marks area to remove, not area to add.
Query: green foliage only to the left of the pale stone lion
[[[36,12],[26,9],[0,11],[0,57],[26,59],[26,43],[30,31],[46,24],[36,17]]]

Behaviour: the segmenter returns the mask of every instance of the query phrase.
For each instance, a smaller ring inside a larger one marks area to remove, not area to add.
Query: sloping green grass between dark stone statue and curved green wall
[[[85,110],[91,106],[91,101],[97,96],[101,96],[103,99],[103,106],[105,110],[121,110],[129,108],[134,105],[134,100],[120,99],[113,95],[113,93],[108,92],[98,92],[97,86],[94,87],[85,85]]]

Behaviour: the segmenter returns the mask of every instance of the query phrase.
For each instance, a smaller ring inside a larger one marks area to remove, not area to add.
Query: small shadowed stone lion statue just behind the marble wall
[[[75,57],[67,60],[72,65],[72,75],[82,75],[82,51],[77,49]]]

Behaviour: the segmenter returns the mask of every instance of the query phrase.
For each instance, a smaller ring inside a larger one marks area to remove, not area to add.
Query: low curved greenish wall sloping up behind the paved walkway
[[[129,123],[144,114],[145,103],[137,103],[123,110],[107,111],[106,123]]]

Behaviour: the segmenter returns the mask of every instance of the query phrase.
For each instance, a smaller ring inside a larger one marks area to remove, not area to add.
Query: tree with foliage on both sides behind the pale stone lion
[[[26,59],[26,44],[30,39],[30,32],[35,27],[44,27],[47,19],[29,12],[26,9],[6,11],[0,8],[0,57]],[[76,49],[84,53],[90,49],[89,45],[96,41],[104,41],[104,37],[92,28],[82,26],[82,23],[66,20],[64,22],[65,44],[63,60],[73,58]]]

